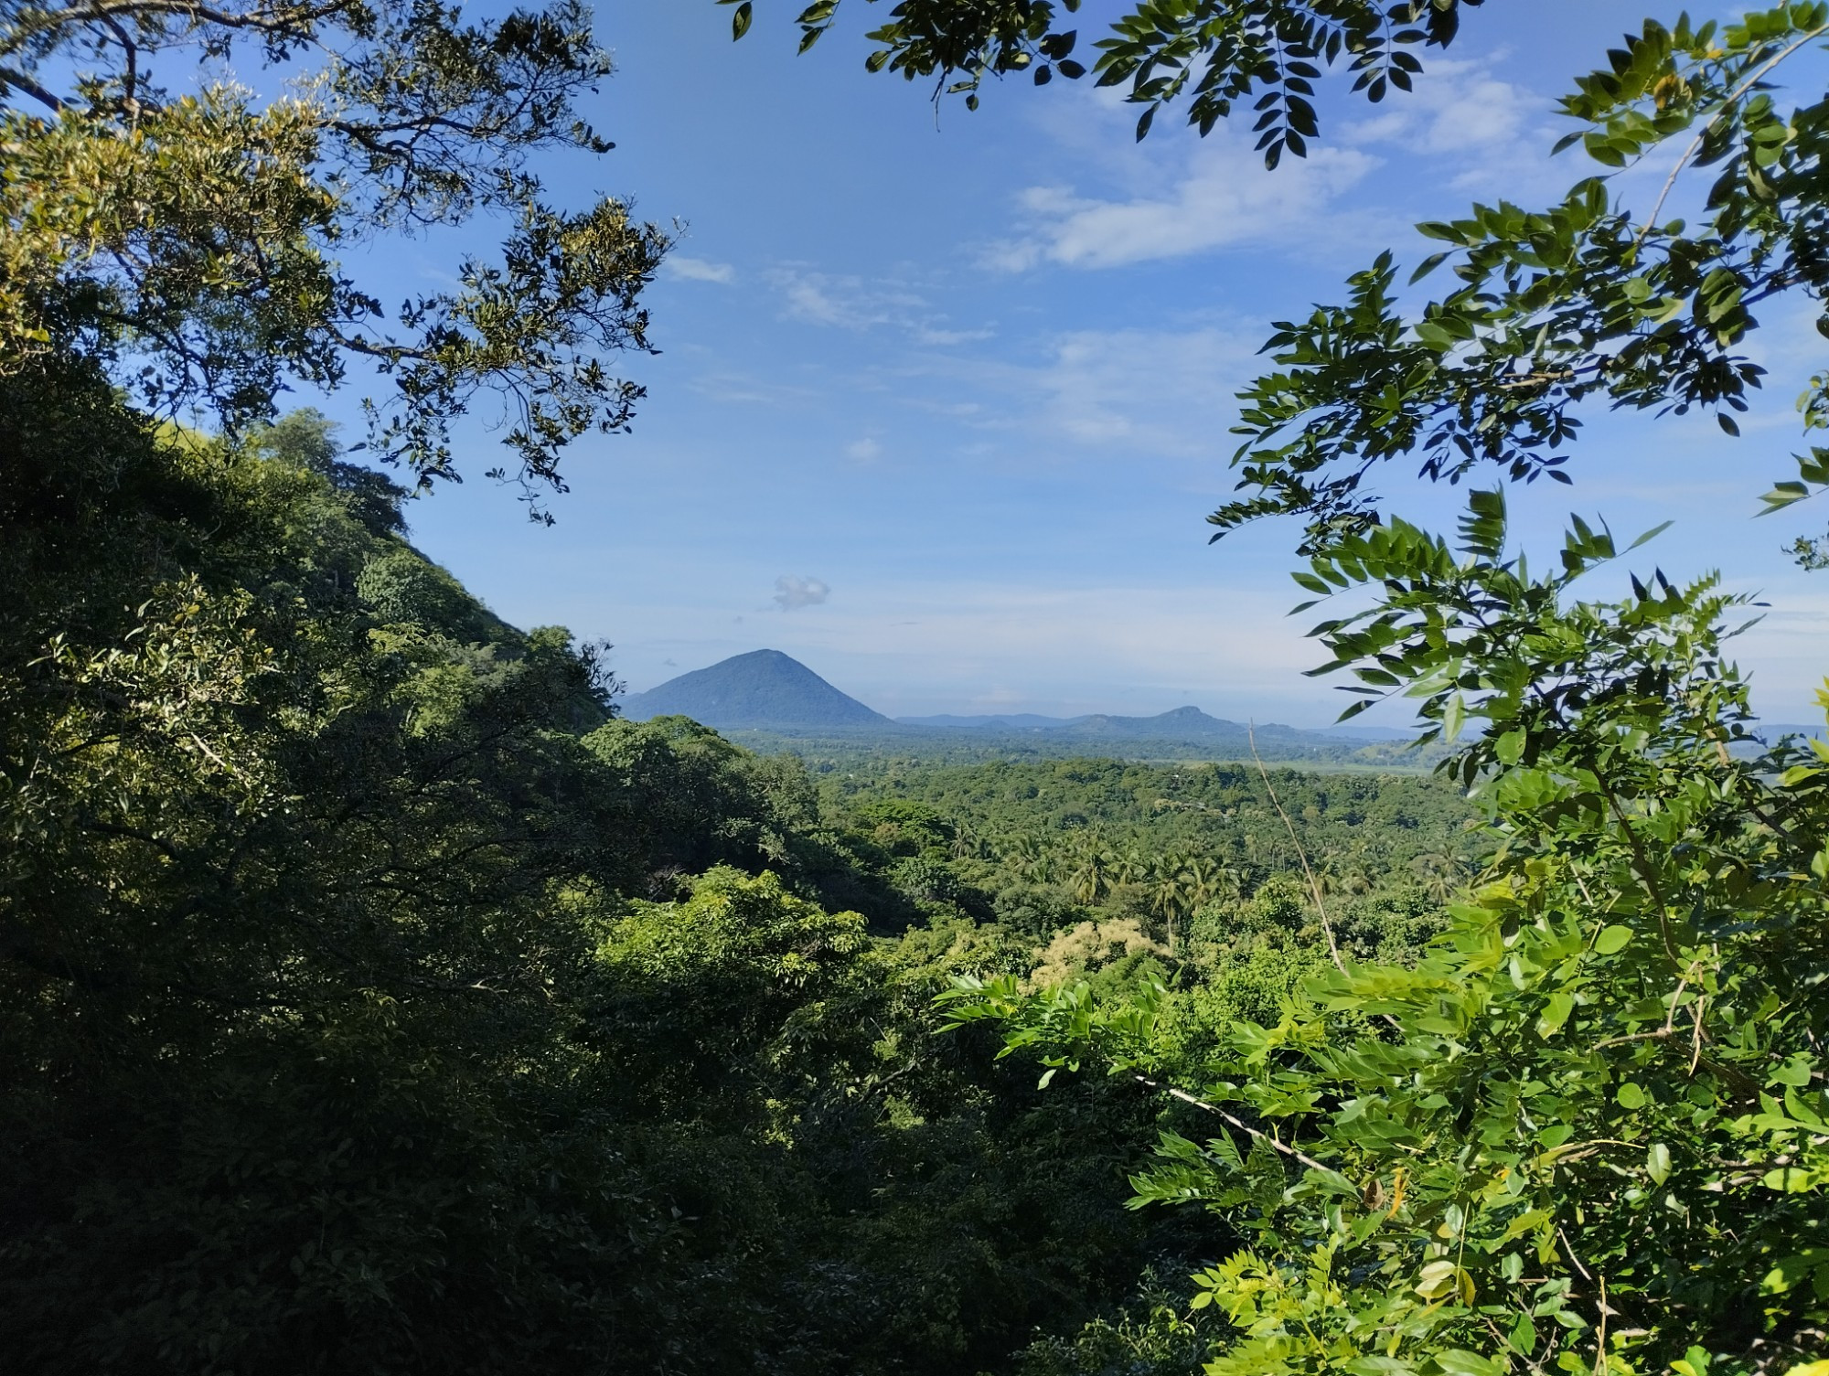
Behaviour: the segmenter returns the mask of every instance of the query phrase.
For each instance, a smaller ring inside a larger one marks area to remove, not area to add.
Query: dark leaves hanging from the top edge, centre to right
[[[730,0],[719,0],[730,4]],[[1383,101],[1410,90],[1423,70],[1417,46],[1445,48],[1460,29],[1461,5],[1481,0],[1141,0],[1112,24],[1092,73],[1099,86],[1125,86],[1143,106],[1138,137],[1156,112],[1187,101],[1187,123],[1202,134],[1246,102],[1266,167],[1282,156],[1304,157],[1319,134],[1313,95],[1324,68],[1344,64],[1353,90]],[[1061,27],[1079,0],[902,0],[891,22],[871,31],[871,71],[907,81],[933,79],[935,95],[964,93],[979,108],[988,75],[1032,71],[1037,86],[1086,75],[1072,59],[1077,29]],[[801,51],[832,27],[838,0],[816,0],[799,15]],[[732,29],[748,33],[750,0],[737,5]]]

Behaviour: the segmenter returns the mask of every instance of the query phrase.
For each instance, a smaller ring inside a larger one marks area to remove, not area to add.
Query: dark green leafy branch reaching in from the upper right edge
[[[1778,66],[1825,35],[1824,4],[1725,27],[1648,20],[1562,102],[1586,126],[1564,146],[1578,141],[1602,167],[1670,152],[1642,216],[1615,203],[1606,176],[1547,210],[1476,205],[1419,227],[1449,247],[1410,280],[1450,263],[1460,284],[1449,295],[1405,309],[1385,254],[1352,278],[1346,306],[1278,322],[1266,346],[1278,371],[1240,393],[1235,465],[1247,496],[1209,516],[1218,534],[1288,512],[1308,521],[1304,553],[1322,549],[1375,520],[1364,483],[1394,457],[1417,459],[1430,479],[1491,465],[1513,481],[1567,481],[1560,467],[1586,399],[1701,408],[1739,434],[1734,415],[1763,379],[1745,353],[1752,309],[1785,295],[1822,309],[1829,293],[1829,101],[1787,112],[1770,90]],[[1701,223],[1661,220],[1695,167],[1717,168]],[[1824,379],[1800,406],[1807,426],[1829,423]],[[1818,457],[1800,465],[1803,483],[1776,489],[1772,507],[1824,485]]]

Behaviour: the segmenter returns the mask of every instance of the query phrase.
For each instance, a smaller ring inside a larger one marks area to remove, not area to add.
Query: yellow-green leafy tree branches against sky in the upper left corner
[[[155,81],[157,64],[188,82],[198,62],[247,57],[293,93],[201,81],[170,97]],[[604,359],[649,348],[636,300],[668,247],[615,199],[552,210],[527,172],[541,150],[611,148],[576,113],[609,71],[578,0],[483,24],[432,0],[9,5],[0,368],[91,359],[150,412],[205,408],[236,432],[291,382],[337,386],[366,357],[399,382],[371,403],[379,457],[452,476],[452,417],[494,397],[510,474],[529,494],[563,487],[563,446],[626,428],[642,395]],[[503,262],[397,309],[335,260],[477,214],[518,221]]]

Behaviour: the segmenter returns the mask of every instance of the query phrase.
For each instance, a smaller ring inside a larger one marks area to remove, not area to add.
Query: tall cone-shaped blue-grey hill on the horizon
[[[622,701],[635,721],[682,715],[717,730],[894,726],[779,650],[748,655],[668,679]]]

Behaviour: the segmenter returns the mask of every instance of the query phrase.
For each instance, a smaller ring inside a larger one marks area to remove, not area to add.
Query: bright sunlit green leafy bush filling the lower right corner
[[[1174,994],[949,1001],[1218,1118],[1134,1182],[1242,1237],[1194,1277],[1229,1325],[1214,1376],[1750,1374],[1820,1352],[1829,747],[1745,732],[1723,653],[1741,598],[1653,576],[1575,602],[1610,534],[1575,523],[1547,576],[1505,545],[1487,492],[1460,551],[1394,521],[1300,576],[1374,593],[1317,628],[1332,668],[1449,737],[1483,725],[1449,769],[1500,849],[1419,964],[1348,966],[1198,1061],[1154,1036]]]

